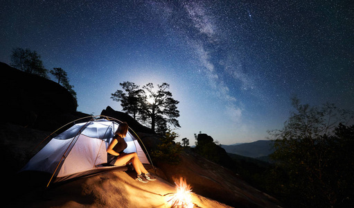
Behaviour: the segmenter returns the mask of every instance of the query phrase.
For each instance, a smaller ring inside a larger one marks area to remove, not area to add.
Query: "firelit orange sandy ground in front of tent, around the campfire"
[[[113,171],[83,178],[42,192],[29,190],[11,200],[8,207],[170,207],[168,200],[175,184],[157,177],[156,181],[136,182],[134,173]],[[192,194],[195,207],[229,207]]]

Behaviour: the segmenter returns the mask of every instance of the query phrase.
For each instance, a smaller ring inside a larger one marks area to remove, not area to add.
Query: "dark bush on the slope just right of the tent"
[[[171,164],[178,164],[179,153],[182,151],[182,146],[175,139],[179,137],[176,132],[168,129],[166,137],[162,137],[161,144],[157,146],[156,150],[152,151],[152,158],[155,161],[166,161]]]

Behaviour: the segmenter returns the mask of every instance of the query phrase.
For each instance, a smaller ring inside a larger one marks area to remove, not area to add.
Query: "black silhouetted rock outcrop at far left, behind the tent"
[[[41,130],[55,130],[74,118],[77,102],[58,83],[0,62],[1,120]]]

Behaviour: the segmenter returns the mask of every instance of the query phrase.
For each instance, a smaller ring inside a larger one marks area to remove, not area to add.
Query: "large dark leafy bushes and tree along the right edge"
[[[354,125],[338,122],[353,116],[333,104],[310,107],[293,98],[292,105],[283,130],[269,132],[278,176],[269,189],[294,207],[346,207],[353,201]]]

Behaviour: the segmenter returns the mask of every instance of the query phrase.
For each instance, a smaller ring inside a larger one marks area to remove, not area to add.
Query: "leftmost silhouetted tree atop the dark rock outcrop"
[[[16,48],[12,50],[10,65],[21,71],[33,73],[44,78],[48,78],[47,69],[44,69],[40,55],[30,49]]]

